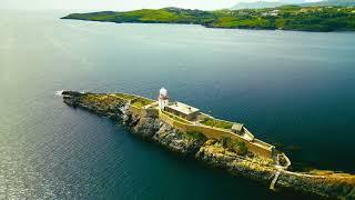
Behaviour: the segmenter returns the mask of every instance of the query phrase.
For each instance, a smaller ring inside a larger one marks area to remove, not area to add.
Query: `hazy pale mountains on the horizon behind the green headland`
[[[276,8],[286,4],[297,4],[302,7],[355,7],[355,0],[323,0],[317,2],[305,2],[303,0],[286,0],[286,1],[255,1],[255,2],[239,2],[233,6],[232,10],[240,9],[263,9],[263,8]]]

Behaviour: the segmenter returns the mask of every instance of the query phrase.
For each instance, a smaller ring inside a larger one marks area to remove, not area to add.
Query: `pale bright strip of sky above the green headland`
[[[253,2],[261,0],[0,0],[0,9],[121,11],[144,8],[156,9],[164,7],[179,7],[187,9],[214,10],[231,8],[241,1]]]

